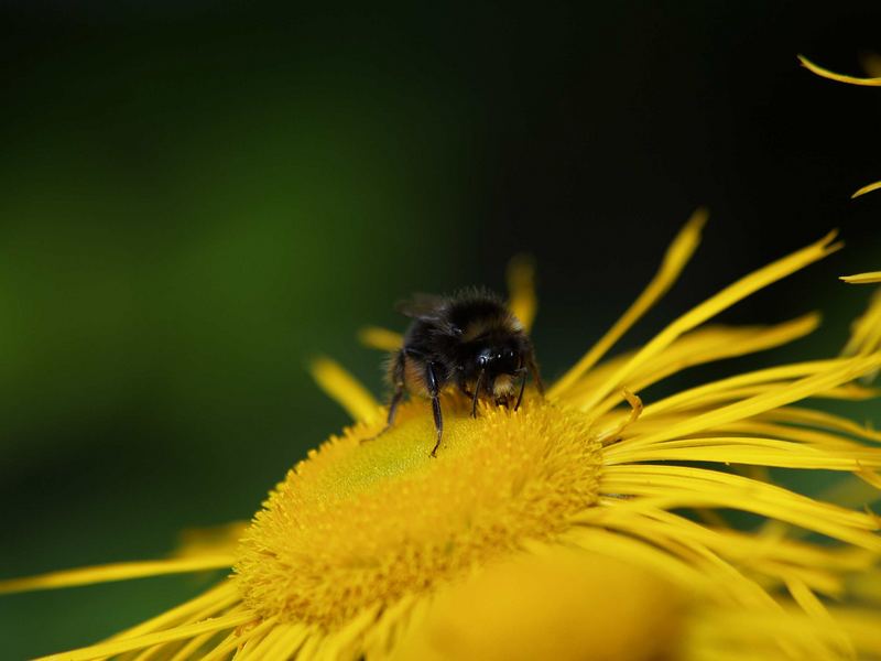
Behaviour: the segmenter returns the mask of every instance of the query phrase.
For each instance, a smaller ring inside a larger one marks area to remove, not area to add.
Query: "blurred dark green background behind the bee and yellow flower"
[[[725,315],[823,308],[837,351],[881,268],[877,1],[0,9],[2,576],[171,551],[247,519],[347,422],[328,354],[382,392],[366,324],[540,268],[548,378],[629,304],[692,209],[684,281],[623,346],[841,228],[848,250]],[[711,366],[674,388],[731,369]],[[660,392],[661,390],[659,390]],[[871,407],[849,412],[870,415]],[[167,608],[209,577],[0,599],[3,659]]]

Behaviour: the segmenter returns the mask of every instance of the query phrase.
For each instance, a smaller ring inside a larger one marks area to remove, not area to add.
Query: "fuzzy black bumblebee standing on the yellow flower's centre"
[[[394,424],[405,392],[429,398],[437,431],[433,457],[444,434],[438,395],[445,388],[458,388],[471,398],[472,418],[477,418],[481,399],[505,407],[513,402],[516,411],[527,375],[544,393],[532,340],[492,292],[470,289],[453,296],[417,294],[398,310],[413,322],[403,346],[389,360],[393,391],[385,430]]]

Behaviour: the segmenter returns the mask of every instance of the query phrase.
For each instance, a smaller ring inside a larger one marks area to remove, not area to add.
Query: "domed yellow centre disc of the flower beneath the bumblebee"
[[[425,401],[390,431],[359,424],[290,470],[236,563],[261,615],[322,626],[429,590],[596,503],[600,444],[575,412],[530,397],[516,412],[443,398],[444,441]]]

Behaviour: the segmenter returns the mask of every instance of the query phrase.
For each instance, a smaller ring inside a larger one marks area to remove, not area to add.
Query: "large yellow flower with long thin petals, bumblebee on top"
[[[377,436],[384,410],[322,359],[316,379],[356,422],[291,469],[247,529],[198,537],[164,561],[12,579],[0,590],[233,568],[202,596],[57,657],[72,661],[878,657],[881,537],[862,507],[879,496],[881,434],[796,405],[873,397],[856,379],[881,366],[877,333],[855,333],[841,357],[645,404],[635,394],[813,330],[816,314],[768,327],[706,323],[836,250],[834,236],[602,360],[678,278],[704,221],[697,212],[645,291],[546,399],[530,392],[516,412],[482,405],[474,420],[470,402],[445,393],[436,459],[424,401],[403,404]],[[524,262],[510,273],[511,307],[526,325],[536,307],[530,273]],[[863,319],[878,310],[875,299]],[[376,328],[362,338],[400,342]],[[850,479],[811,498],[775,484],[771,468]],[[759,523],[736,528],[728,510]]]

